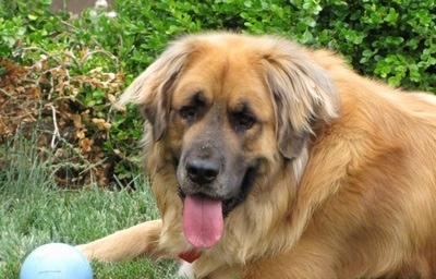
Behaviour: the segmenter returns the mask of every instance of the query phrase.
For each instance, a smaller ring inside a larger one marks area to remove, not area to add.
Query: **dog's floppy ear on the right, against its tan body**
[[[280,38],[263,43],[263,71],[274,96],[278,148],[288,159],[296,158],[313,133],[339,112],[339,95],[329,75],[303,47]]]

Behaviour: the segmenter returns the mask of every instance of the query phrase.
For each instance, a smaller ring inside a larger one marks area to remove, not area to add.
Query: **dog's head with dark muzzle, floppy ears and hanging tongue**
[[[220,33],[173,43],[121,102],[140,105],[152,144],[165,142],[184,232],[198,247],[216,243],[222,218],[272,162],[294,163],[293,175],[302,174],[313,125],[329,122],[339,106],[334,83],[300,46]]]

